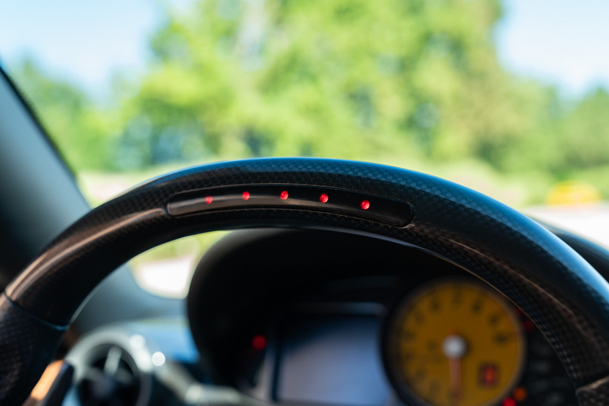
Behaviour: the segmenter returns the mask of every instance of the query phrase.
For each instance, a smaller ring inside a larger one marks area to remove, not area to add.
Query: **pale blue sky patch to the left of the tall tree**
[[[192,0],[0,0],[0,61],[29,56],[88,88],[107,86],[113,72],[137,71],[147,58],[163,4]]]

